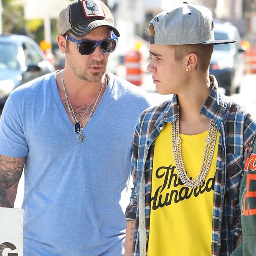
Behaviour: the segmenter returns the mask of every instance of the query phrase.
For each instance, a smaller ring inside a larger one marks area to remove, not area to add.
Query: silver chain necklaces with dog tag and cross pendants
[[[105,85],[105,75],[104,75],[104,80],[102,82],[102,87],[101,87],[101,90],[99,91],[99,93],[96,95],[96,97],[93,99],[93,101],[90,103],[90,105],[88,106],[88,108],[85,110],[85,112],[83,113],[83,115],[79,118],[79,120],[76,118],[75,116],[75,111],[72,107],[72,104],[70,102],[70,99],[68,98],[68,94],[67,94],[67,91],[66,91],[66,88],[65,88],[65,85],[64,85],[64,79],[63,79],[63,71],[61,72],[61,82],[62,82],[62,86],[63,86],[63,90],[64,90],[64,95],[65,95],[65,98],[66,98],[66,101],[67,101],[67,106],[68,106],[68,112],[74,122],[74,132],[75,133],[79,133],[79,136],[77,136],[77,138],[79,139],[79,143],[83,143],[83,139],[84,139],[84,136],[83,136],[83,128],[85,128],[85,126],[87,125],[87,123],[90,121],[93,113],[94,113],[94,109],[98,103],[98,99],[100,98],[100,95],[102,93],[102,89]],[[96,100],[96,101],[95,101]],[[95,102],[94,102],[95,101]],[[93,102],[94,102],[94,105],[93,105]],[[86,119],[86,122],[83,126],[83,128],[81,128],[81,123],[80,123],[80,120],[82,120],[82,118],[85,116],[85,114],[87,113],[87,111],[90,109],[90,107],[93,105],[93,108],[90,112],[90,115],[89,117],[87,117]]]

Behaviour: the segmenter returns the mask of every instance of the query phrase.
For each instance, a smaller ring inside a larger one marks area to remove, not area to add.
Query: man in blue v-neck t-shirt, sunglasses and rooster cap
[[[64,70],[18,87],[0,120],[0,207],[13,207],[23,167],[24,256],[122,255],[132,139],[149,106],[106,71],[119,32],[99,0],[60,11]]]

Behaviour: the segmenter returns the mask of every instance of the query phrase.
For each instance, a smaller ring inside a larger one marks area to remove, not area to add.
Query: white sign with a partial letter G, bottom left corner
[[[23,209],[0,207],[0,255],[23,256]]]

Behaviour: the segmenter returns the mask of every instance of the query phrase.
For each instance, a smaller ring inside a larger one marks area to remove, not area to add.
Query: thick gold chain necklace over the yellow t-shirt
[[[188,177],[188,174],[184,168],[184,162],[181,154],[181,137],[180,137],[180,118],[179,118],[179,108],[178,108],[178,118],[173,122],[172,127],[172,144],[173,144],[173,156],[176,165],[177,172],[182,183],[188,188],[197,188],[205,180],[212,162],[212,157],[214,153],[217,129],[213,126],[213,120],[210,120],[207,137],[205,139],[205,149],[203,154],[203,161],[199,174],[194,180]]]

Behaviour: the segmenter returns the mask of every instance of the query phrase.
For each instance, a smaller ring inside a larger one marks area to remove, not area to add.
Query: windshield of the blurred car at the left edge
[[[14,44],[0,42],[0,69],[18,69],[17,47]]]

